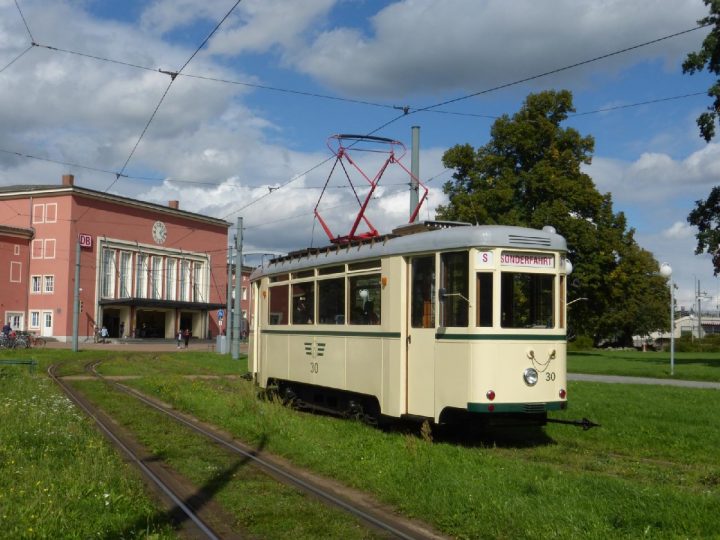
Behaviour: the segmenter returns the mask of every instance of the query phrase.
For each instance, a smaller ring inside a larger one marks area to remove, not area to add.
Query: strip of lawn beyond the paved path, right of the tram
[[[668,352],[606,350],[572,352],[568,353],[568,371],[720,382],[720,354],[675,353],[675,374],[670,375]]]

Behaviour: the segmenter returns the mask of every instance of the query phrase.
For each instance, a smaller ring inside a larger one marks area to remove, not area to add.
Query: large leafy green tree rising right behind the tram
[[[600,194],[581,166],[594,140],[560,124],[573,112],[569,91],[531,94],[520,111],[502,116],[490,141],[449,149],[455,169],[444,186],[443,219],[542,228],[553,225],[568,241],[575,266],[568,300],[576,331],[628,344],[633,335],[668,326],[669,293],[657,262],[634,240],[610,194]],[[584,299],[580,301],[580,299]]]

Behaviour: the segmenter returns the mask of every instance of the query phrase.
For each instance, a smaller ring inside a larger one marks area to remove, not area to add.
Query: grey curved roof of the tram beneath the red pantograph
[[[316,266],[332,266],[397,255],[413,255],[460,248],[545,249],[567,251],[565,238],[557,233],[507,225],[468,225],[424,230],[414,234],[389,234],[367,240],[307,248],[276,257],[255,269],[251,280],[264,275],[297,272]]]

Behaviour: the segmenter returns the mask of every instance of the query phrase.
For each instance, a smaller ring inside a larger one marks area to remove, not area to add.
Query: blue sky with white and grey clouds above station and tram
[[[246,252],[322,246],[318,201],[335,236],[358,207],[332,169],[334,135],[407,147],[350,147],[373,177],[390,148],[410,167],[419,126],[420,218],[433,219],[447,149],[480,147],[528,94],[567,89],[576,113],[562,126],[595,139],[585,172],[672,266],[678,305],[699,281],[717,309],[720,281],[687,223],[720,172],[720,139],[695,123],[713,79],[681,69],[705,15],[701,0],[0,0],[0,186],[73,174],[242,217]],[[382,175],[368,211],[381,233],[407,222],[408,180],[397,164]]]

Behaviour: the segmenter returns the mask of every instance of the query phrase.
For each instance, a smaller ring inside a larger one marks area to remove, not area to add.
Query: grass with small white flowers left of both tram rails
[[[134,471],[43,376],[0,368],[4,538],[174,538]]]

